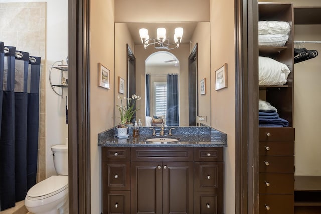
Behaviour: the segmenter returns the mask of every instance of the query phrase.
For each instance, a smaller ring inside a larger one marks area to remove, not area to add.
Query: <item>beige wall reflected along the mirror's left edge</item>
[[[132,52],[135,51],[135,47],[126,23],[115,23],[115,38],[115,105],[121,105],[118,96],[127,97],[127,44]],[[125,80],[125,94],[118,93],[118,77]],[[115,125],[120,123],[119,116],[119,111],[116,109]]]

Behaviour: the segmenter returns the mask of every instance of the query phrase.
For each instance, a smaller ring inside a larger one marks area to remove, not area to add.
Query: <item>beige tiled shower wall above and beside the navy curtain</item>
[[[37,182],[46,179],[46,3],[0,3],[0,41],[41,57]]]

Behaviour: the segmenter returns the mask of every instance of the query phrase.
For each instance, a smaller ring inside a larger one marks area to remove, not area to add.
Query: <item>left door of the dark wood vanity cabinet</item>
[[[131,162],[131,213],[162,213],[162,162]]]

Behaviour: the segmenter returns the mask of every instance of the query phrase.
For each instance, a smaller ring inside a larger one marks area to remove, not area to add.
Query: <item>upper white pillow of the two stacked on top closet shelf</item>
[[[259,34],[286,34],[289,35],[291,26],[284,21],[259,21]]]

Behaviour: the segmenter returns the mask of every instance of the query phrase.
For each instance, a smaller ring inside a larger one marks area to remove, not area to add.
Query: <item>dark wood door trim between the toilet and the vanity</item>
[[[90,213],[90,0],[68,1],[69,213]]]

